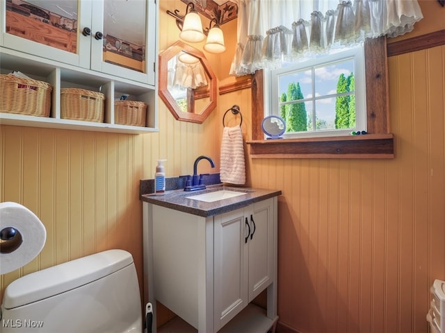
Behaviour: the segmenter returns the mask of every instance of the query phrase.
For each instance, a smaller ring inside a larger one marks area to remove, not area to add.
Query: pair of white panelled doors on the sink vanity
[[[273,199],[213,218],[215,323],[228,323],[273,282]]]

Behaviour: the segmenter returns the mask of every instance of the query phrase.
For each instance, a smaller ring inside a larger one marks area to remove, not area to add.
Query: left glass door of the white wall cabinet
[[[90,43],[82,41],[79,34],[80,17],[91,19],[88,1],[79,6],[77,0],[6,0],[2,6],[5,6],[2,8],[5,23],[1,27],[3,46],[89,67]]]

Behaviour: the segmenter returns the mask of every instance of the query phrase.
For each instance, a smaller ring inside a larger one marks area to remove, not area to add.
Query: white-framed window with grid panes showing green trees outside
[[[271,87],[266,90],[268,114],[284,119],[284,137],[328,137],[366,130],[363,49],[358,46],[288,63],[266,74]]]

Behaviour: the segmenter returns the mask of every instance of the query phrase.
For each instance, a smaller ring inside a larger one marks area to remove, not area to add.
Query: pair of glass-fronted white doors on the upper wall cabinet
[[[155,85],[154,0],[6,0],[1,45]]]

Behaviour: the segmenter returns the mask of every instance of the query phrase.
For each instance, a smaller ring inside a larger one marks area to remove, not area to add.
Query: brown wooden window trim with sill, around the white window
[[[252,158],[394,158],[394,135],[389,133],[389,88],[386,37],[366,39],[366,135],[265,140],[264,73],[252,76]],[[375,98],[379,96],[379,98]]]

